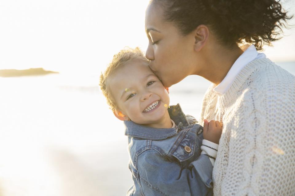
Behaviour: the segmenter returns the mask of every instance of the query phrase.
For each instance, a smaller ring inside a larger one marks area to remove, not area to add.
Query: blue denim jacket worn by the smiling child
[[[179,104],[169,106],[168,112],[176,128],[124,121],[134,182],[127,195],[213,195],[213,167],[208,156],[200,155],[203,127],[184,115]]]

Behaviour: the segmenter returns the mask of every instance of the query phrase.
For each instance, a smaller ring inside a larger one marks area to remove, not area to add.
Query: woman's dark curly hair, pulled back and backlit
[[[163,17],[183,35],[207,25],[221,43],[253,43],[257,50],[279,40],[288,16],[276,0],[151,0],[163,8]]]

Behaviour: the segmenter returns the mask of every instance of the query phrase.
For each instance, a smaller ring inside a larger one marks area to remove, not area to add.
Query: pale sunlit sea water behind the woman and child
[[[295,75],[295,62],[278,63]],[[0,195],[124,195],[132,185],[123,123],[99,75],[0,78]],[[189,76],[170,104],[200,115],[210,82]]]

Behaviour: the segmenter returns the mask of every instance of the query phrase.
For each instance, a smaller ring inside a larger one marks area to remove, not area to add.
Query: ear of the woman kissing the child
[[[199,52],[206,44],[209,37],[209,29],[206,25],[199,25],[195,31],[195,51]]]

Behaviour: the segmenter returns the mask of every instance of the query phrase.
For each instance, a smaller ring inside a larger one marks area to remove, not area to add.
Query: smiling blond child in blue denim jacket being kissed
[[[127,195],[212,195],[222,126],[204,120],[202,128],[179,104],[169,106],[169,90],[148,63],[140,49],[125,49],[100,76],[108,104],[126,127],[134,182]]]

